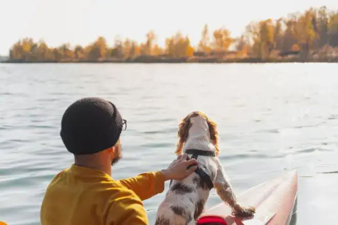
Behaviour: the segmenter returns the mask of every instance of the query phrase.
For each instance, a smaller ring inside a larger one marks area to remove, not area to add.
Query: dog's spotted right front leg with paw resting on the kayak
[[[220,198],[226,202],[231,209],[233,210],[233,214],[241,217],[249,217],[252,216],[256,209],[255,207],[242,207],[236,199],[233,188],[230,183],[227,181],[224,169],[219,159],[216,158],[217,164],[217,174],[214,182],[214,186],[217,194]]]

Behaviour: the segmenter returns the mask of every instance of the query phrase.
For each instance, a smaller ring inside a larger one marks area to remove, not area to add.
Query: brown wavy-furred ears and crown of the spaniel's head
[[[192,120],[199,119],[199,118],[203,119],[206,122],[209,139],[211,143],[215,146],[216,155],[219,154],[218,131],[217,131],[216,123],[210,120],[201,111],[192,111],[186,117],[184,117],[182,121],[180,122],[178,133],[177,133],[178,143],[177,143],[176,152],[175,152],[177,155],[182,154],[184,143],[186,142],[188,135],[189,135],[189,129],[192,127]]]

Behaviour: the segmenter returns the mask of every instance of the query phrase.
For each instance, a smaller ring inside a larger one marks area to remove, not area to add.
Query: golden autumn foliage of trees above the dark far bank
[[[211,38],[210,41],[209,33]],[[300,50],[302,53],[319,50],[325,45],[338,47],[338,13],[328,12],[326,7],[309,9],[302,14],[290,14],[288,18],[277,20],[264,19],[250,22],[241,38],[233,38],[230,31],[219,28],[209,32],[205,24],[201,32],[201,40],[197,50],[192,47],[188,36],[177,32],[165,39],[164,49],[157,44],[154,31],[146,33],[144,43],[132,39],[115,38],[115,43],[109,47],[104,37],[100,36],[87,46],[71,48],[69,43],[57,48],[48,47],[43,41],[34,42],[26,37],[15,42],[10,49],[10,60],[17,61],[62,61],[68,60],[101,60],[126,59],[142,56],[159,56],[167,58],[188,58],[213,54],[224,57],[236,39],[237,55],[254,54],[260,58],[270,57],[272,52],[287,52]],[[241,41],[238,41],[241,39]],[[236,55],[236,54],[233,54]],[[147,57],[149,58],[149,57]]]

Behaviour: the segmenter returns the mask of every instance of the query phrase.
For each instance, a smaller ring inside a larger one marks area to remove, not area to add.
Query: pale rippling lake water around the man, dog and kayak
[[[165,168],[180,119],[202,110],[218,123],[236,193],[298,169],[297,224],[336,223],[337,71],[325,63],[0,64],[0,220],[39,224],[45,188],[73,162],[61,116],[78,98],[99,96],[128,120],[115,179]],[[144,202],[150,224],[165,191]],[[219,202],[213,191],[207,207]]]

